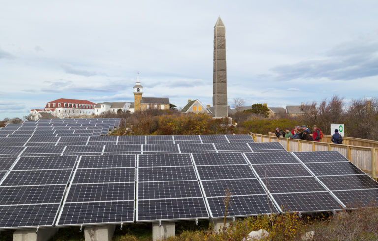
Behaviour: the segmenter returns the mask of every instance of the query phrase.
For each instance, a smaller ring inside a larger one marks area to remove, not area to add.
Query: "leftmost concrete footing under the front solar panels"
[[[19,229],[13,233],[13,241],[47,241],[57,231],[58,228]]]

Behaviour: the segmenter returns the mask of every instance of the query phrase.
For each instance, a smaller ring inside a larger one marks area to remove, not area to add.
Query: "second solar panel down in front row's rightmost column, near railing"
[[[365,174],[361,169],[351,162],[317,162],[306,163],[306,166],[316,175],[346,175],[346,174]]]

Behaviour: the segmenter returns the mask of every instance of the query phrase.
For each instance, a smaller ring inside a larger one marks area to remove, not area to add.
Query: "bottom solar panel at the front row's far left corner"
[[[0,228],[53,226],[60,204],[0,206]]]

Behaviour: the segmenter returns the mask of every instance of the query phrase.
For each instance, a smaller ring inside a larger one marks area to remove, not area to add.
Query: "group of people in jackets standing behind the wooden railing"
[[[312,133],[313,135],[311,135]],[[313,126],[313,130],[310,131],[306,125],[302,126],[295,126],[294,129],[290,131],[289,128],[286,128],[285,131],[280,130],[280,128],[276,128],[276,136],[277,137],[284,137],[289,139],[299,139],[305,141],[315,141],[320,142],[321,138],[323,137],[323,132],[316,126]],[[343,138],[339,134],[339,130],[335,130],[335,134],[332,136],[331,141],[336,144],[343,144]]]

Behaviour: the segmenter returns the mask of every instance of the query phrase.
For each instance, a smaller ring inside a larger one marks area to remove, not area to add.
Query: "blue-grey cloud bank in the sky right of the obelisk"
[[[354,80],[378,75],[378,42],[344,43],[315,60],[306,60],[271,69],[277,80]]]

